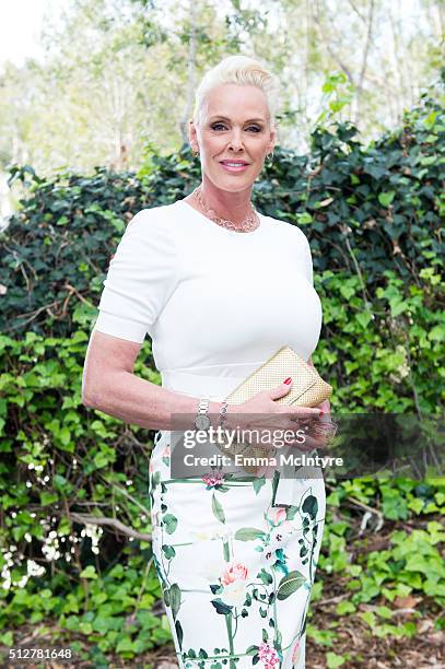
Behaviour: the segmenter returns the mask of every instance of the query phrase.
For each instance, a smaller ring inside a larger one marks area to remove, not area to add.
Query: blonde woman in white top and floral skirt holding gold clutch
[[[253,59],[232,56],[206,74],[189,126],[202,183],[130,221],[85,361],[86,406],[161,431],[150,463],[153,553],[180,667],[305,666],[323,476],[171,476],[173,414],[186,416],[183,427],[230,427],[234,407],[222,400],[232,389],[280,347],[311,360],[317,345],[307,239],[250,203],[276,142],[273,101],[273,78]],[[147,332],[162,387],[132,374]],[[256,414],[262,426],[294,425],[284,412],[302,409],[274,401],[291,384],[237,406],[237,424]],[[304,412],[318,416],[324,404]]]

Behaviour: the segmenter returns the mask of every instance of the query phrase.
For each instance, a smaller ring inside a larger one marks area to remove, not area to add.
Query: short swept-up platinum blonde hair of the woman
[[[277,81],[266,67],[247,56],[229,56],[206,72],[195,94],[194,124],[202,122],[202,107],[209,92],[223,83],[253,85],[260,89],[269,108],[270,126],[276,126]]]

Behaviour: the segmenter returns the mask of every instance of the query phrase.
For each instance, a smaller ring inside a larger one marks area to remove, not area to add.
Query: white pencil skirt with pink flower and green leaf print
[[[304,669],[306,614],[325,524],[318,478],[171,479],[169,433],[150,461],[153,554],[179,667]],[[289,481],[286,481],[289,484]]]

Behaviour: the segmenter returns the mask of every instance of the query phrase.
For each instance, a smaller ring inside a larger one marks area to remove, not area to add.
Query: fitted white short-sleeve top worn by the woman
[[[94,329],[133,342],[149,333],[161,372],[255,368],[282,345],[307,360],[323,318],[308,240],[259,218],[238,233],[184,200],[138,212],[110,261]]]

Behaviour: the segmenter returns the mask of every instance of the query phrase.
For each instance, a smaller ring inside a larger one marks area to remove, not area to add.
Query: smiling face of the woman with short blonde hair
[[[274,140],[267,99],[257,86],[226,83],[212,89],[198,127],[190,121],[190,144],[200,153],[202,174],[232,192],[254,184]]]

